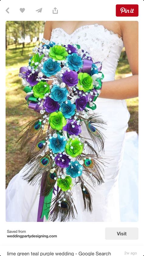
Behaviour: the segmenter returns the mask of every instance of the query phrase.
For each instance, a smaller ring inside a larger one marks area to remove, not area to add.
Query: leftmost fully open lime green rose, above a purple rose
[[[33,86],[33,95],[36,98],[43,99],[46,93],[50,92],[50,86],[46,82],[39,82]]]

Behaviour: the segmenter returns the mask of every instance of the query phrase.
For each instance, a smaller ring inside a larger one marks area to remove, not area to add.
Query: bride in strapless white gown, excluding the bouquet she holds
[[[102,62],[101,71],[105,75],[96,101],[96,112],[106,122],[105,153],[102,155],[108,162],[104,170],[105,183],[91,192],[92,214],[83,211],[82,194],[75,186],[73,198],[77,216],[71,221],[120,221],[118,173],[130,116],[125,99],[138,96],[138,22],[47,21],[44,38],[56,44],[80,44],[94,62]],[[124,46],[132,76],[115,80],[118,59]],[[88,137],[86,131],[83,132]],[[12,178],[6,189],[6,221],[37,221],[40,188],[22,179],[24,169]]]

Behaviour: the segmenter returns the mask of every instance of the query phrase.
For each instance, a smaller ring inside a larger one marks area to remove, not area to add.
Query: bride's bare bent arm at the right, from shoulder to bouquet
[[[129,99],[138,96],[138,22],[121,22],[121,30],[132,76],[103,82],[101,98]]]

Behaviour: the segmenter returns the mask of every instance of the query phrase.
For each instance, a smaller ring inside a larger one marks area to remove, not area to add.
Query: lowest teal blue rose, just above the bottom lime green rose
[[[67,175],[77,178],[82,175],[83,166],[78,161],[70,162],[70,166],[66,169]]]

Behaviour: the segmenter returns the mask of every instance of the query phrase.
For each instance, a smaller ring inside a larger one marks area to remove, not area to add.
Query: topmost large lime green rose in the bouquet
[[[49,57],[55,61],[63,61],[67,56],[66,48],[61,45],[54,45],[50,48]]]

